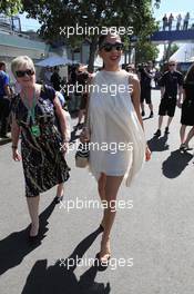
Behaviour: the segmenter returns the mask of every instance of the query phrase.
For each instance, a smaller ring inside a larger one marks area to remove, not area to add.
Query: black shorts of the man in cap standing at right
[[[169,116],[173,117],[176,108],[176,97],[164,97],[161,99],[161,104],[159,107],[160,116]]]

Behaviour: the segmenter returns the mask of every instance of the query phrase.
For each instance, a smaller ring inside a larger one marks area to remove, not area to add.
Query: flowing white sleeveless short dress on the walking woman
[[[144,161],[145,137],[131,101],[129,74],[102,70],[92,85],[100,90],[90,91],[90,170],[96,180],[101,173],[124,176],[130,186]],[[114,95],[121,85],[122,90]]]

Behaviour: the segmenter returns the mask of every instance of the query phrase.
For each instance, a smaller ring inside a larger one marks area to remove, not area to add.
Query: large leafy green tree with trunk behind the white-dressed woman
[[[89,70],[93,69],[98,33],[82,36],[67,35],[60,29],[81,26],[82,28],[96,27],[133,27],[135,36],[151,35],[155,30],[152,17],[152,0],[22,0],[23,10],[31,18],[40,21],[40,35],[49,40],[65,40],[71,46],[88,39],[90,41]],[[127,48],[129,36],[123,36]]]

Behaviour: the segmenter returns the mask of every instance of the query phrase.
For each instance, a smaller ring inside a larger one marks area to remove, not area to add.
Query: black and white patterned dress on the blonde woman
[[[41,88],[34,108],[35,124],[40,136],[31,134],[28,108],[18,95],[12,104],[12,114],[21,127],[21,156],[25,179],[25,196],[34,197],[69,178],[70,168],[60,149],[62,137],[55,126],[53,99],[55,91],[49,86]]]

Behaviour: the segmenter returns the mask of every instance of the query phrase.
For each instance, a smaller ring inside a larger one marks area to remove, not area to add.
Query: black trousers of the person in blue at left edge
[[[0,136],[7,135],[9,114],[10,114],[10,100],[8,98],[0,97],[0,122],[1,122]]]

